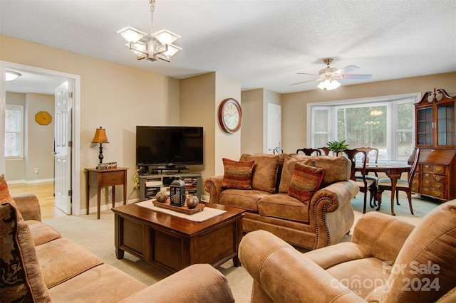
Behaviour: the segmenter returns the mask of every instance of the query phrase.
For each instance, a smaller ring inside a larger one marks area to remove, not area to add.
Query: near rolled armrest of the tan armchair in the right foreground
[[[242,238],[239,259],[254,279],[252,302],[365,302],[301,252],[264,230]]]

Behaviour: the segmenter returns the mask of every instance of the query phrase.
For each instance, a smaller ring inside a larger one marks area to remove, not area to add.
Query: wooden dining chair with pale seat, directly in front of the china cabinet
[[[407,194],[408,198],[408,206],[410,207],[410,213],[413,215],[413,208],[412,208],[412,181],[413,176],[415,176],[415,169],[418,164],[418,159],[420,157],[420,149],[417,148],[415,151],[415,159],[413,160],[412,168],[410,169],[410,173],[408,174],[408,179],[398,179],[398,184],[396,184],[396,203],[399,205],[399,191],[404,191]],[[391,191],[391,179],[390,178],[380,178],[378,179],[378,203],[382,203],[382,193],[383,191]],[[394,193],[391,193],[392,195]]]

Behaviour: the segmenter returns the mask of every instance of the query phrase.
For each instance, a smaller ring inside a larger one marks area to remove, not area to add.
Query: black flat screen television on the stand
[[[136,164],[175,166],[203,164],[202,127],[137,126]]]

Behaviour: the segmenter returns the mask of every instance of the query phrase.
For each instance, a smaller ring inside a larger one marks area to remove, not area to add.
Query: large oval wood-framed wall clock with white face
[[[237,100],[225,99],[219,106],[219,124],[224,132],[234,134],[242,125],[242,109]]]

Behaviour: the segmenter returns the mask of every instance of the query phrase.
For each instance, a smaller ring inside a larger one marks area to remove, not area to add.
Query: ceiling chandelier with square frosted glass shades
[[[179,46],[172,44],[180,36],[167,29],[153,32],[155,0],[149,0],[149,2],[151,18],[148,34],[132,26],[127,26],[117,32],[128,41],[125,46],[133,50],[133,53],[136,54],[136,59],[148,59],[151,61],[161,59],[170,62],[172,55],[182,50]]]

